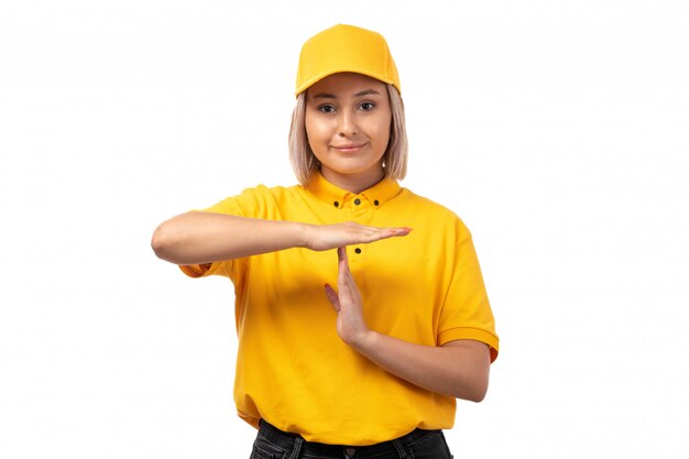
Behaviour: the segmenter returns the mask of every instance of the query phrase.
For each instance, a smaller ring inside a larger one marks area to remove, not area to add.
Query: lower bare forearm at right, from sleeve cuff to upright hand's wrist
[[[481,402],[488,391],[490,354],[482,342],[422,346],[368,331],[350,346],[390,373],[433,392]]]

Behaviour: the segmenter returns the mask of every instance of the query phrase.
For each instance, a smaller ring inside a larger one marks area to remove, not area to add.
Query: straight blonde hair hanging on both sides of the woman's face
[[[385,178],[403,179],[407,173],[408,143],[406,124],[404,121],[404,102],[397,89],[393,85],[387,86],[392,122],[390,124],[390,141],[383,154],[383,170]],[[292,112],[292,125],[289,127],[289,162],[294,174],[304,186],[308,184],[311,175],[319,170],[320,164],[306,135],[306,91],[297,96],[294,111]]]

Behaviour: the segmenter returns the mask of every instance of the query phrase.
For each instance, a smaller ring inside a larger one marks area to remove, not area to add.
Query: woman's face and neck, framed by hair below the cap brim
[[[359,193],[383,177],[392,111],[384,83],[330,75],[306,91],[306,135],[328,182]]]

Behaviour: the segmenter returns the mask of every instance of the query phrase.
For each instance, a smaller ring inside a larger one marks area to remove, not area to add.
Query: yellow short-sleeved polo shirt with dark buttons
[[[471,234],[451,211],[392,179],[361,194],[316,174],[308,187],[259,186],[206,211],[305,223],[411,227],[404,238],[348,247],[368,326],[426,346],[473,339],[497,356],[497,337]],[[387,373],[337,335],[324,285],[337,285],[337,252],[287,249],[181,266],[234,283],[238,414],[308,441],[371,445],[416,427],[450,428],[455,398]]]

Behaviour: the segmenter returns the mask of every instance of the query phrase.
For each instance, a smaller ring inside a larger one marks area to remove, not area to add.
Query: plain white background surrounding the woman
[[[0,457],[249,456],[231,286],[150,238],[295,182],[298,52],[340,22],[387,39],[403,185],[472,230],[496,316],[455,456],[689,457],[688,3],[452,3],[2,1]]]

